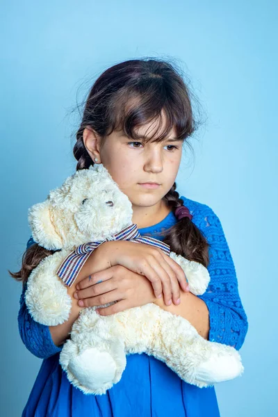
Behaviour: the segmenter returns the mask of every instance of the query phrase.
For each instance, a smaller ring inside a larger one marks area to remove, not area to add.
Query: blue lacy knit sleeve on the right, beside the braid
[[[211,246],[208,249],[208,272],[211,277],[206,293],[199,295],[209,311],[208,340],[231,345],[239,350],[247,334],[248,322],[238,293],[238,280],[234,261],[222,224],[213,210],[206,206],[195,213],[199,229]]]

